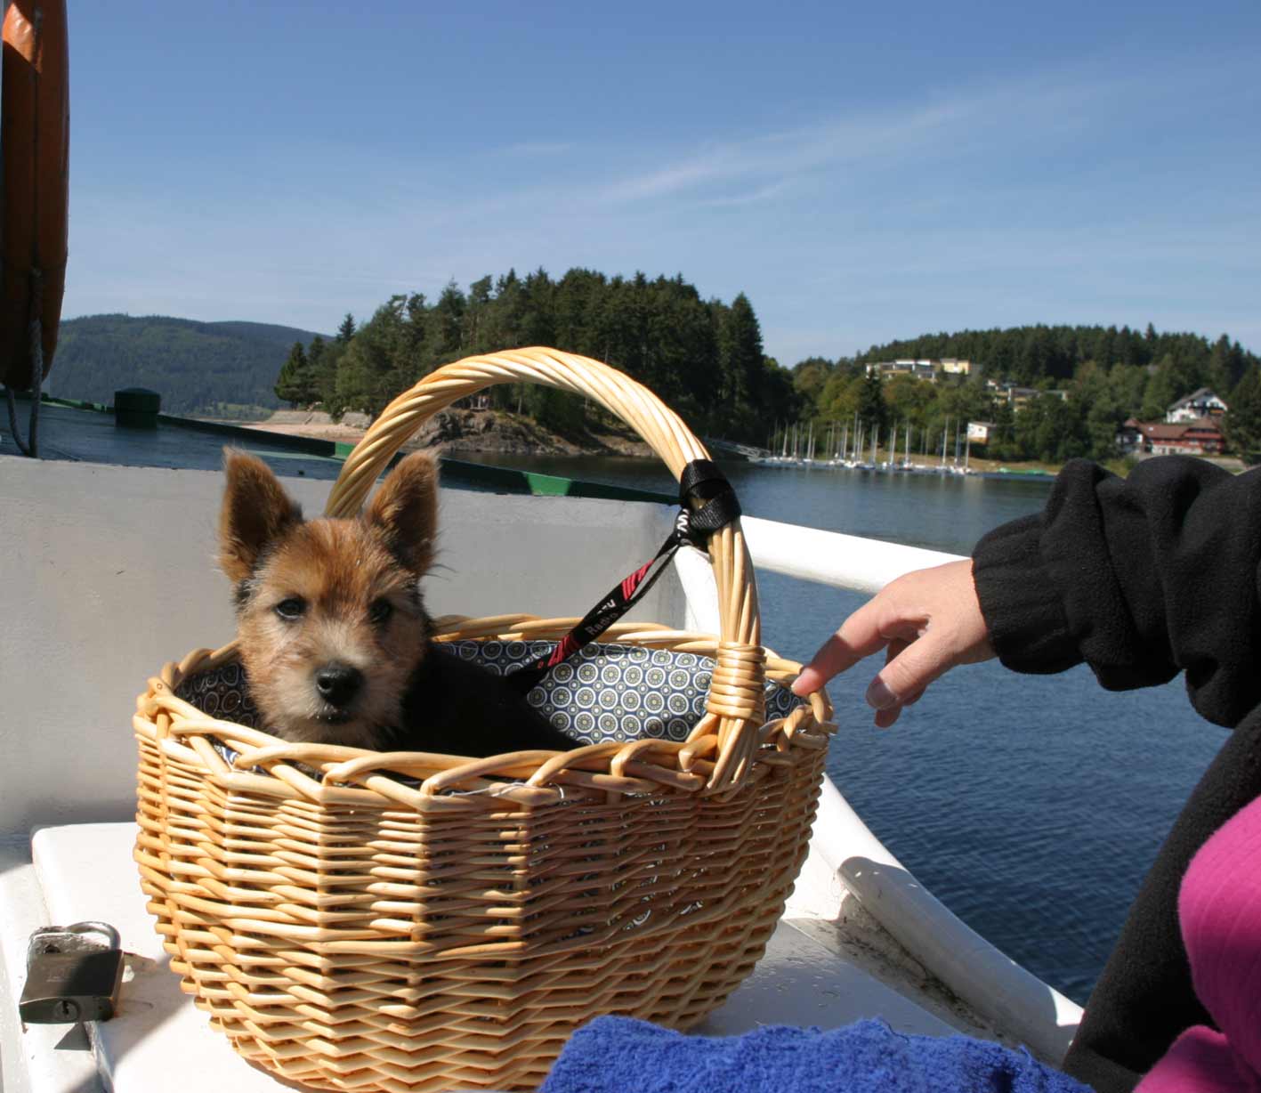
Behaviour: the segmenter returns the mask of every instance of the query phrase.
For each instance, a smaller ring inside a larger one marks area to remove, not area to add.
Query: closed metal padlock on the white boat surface
[[[32,1025],[108,1021],[121,983],[122,947],[108,923],[44,927],[26,943],[18,1012]]]

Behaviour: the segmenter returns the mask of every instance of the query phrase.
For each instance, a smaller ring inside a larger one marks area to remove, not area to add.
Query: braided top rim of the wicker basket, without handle
[[[504,622],[511,620],[508,628]],[[574,619],[497,615],[480,619],[444,616],[439,642],[536,640],[565,633]],[[600,635],[600,644],[666,648],[712,657],[720,645],[711,634],[675,630],[656,623],[619,623]],[[801,664],[767,652],[767,676],[787,686]],[[367,803],[386,798],[407,807],[478,802],[538,806],[575,795],[639,795],[644,793],[715,792],[709,775],[718,754],[715,715],[706,714],[682,743],[657,737],[584,745],[572,751],[512,751],[485,759],[420,751],[368,751],[330,744],[291,744],[260,729],[213,717],[177,696],[184,680],[237,661],[237,643],[195,649],[166,664],[136,700],[135,731],[200,766],[226,788],[250,788],[282,797]],[[792,760],[798,748],[826,748],[835,725],[825,691],[806,696],[787,717],[758,726],[757,746],[747,777],[767,777]],[[217,739],[237,753],[228,763],[213,746]],[[304,768],[319,772],[317,779]],[[259,773],[265,772],[265,773]],[[409,785],[392,775],[420,779]],[[734,787],[726,787],[730,792]],[[351,794],[351,797],[347,797]],[[362,794],[368,794],[367,798]]]

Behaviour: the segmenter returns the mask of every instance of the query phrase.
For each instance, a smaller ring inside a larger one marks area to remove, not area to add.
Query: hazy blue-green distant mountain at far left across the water
[[[47,390],[112,402],[120,387],[151,387],[169,413],[256,416],[280,405],[272,387],[294,342],[314,337],[295,327],[165,315],[67,319]]]

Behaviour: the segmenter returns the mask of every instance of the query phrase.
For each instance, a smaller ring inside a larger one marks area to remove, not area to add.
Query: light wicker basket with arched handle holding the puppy
[[[427,416],[497,382],[601,403],[676,477],[705,458],[619,372],[520,349],[446,366],[396,398],[328,513],[357,512]],[[533,1088],[596,1015],[682,1029],[731,993],[801,867],[832,726],[822,693],[763,724],[767,680],[799,666],[759,644],[739,523],[710,555],[721,639],[627,623],[603,638],[714,658],[682,741],[483,760],[286,744],[177,697],[231,666],[233,645],[150,680],[134,720],[141,886],[183,988],[237,1051],[322,1089]],[[513,642],[574,622],[439,628],[440,640]]]

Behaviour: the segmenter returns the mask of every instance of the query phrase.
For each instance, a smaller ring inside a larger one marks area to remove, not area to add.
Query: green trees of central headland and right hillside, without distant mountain
[[[989,425],[989,442],[982,451],[973,446],[973,455],[997,465],[1059,466],[1077,456],[1108,463],[1127,419],[1163,420],[1177,400],[1211,387],[1231,406],[1231,448],[1246,463],[1261,460],[1261,358],[1226,334],[1211,343],[1151,324],[1145,332],[1039,324],[926,334],[786,368],[763,352],[744,294],[730,304],[705,300],[681,275],[624,279],[574,269],[552,280],[541,269],[525,277],[509,270],[467,291],[453,281],[433,303],[419,292],[395,295],[366,323],[347,314],[332,339],[294,343],[275,392],[334,419],[375,415],[434,368],[508,345],[555,345],[605,361],[652,388],[701,436],[770,451],[782,450],[789,431],[821,439],[861,426],[864,436],[909,427],[912,449],[933,453],[943,440],[950,446],[960,422],[979,421]],[[967,369],[932,381],[868,369],[950,358]],[[1019,403],[1011,387],[1021,391]],[[598,407],[551,388],[499,386],[480,400],[576,450],[604,450],[593,436],[615,427]]]

